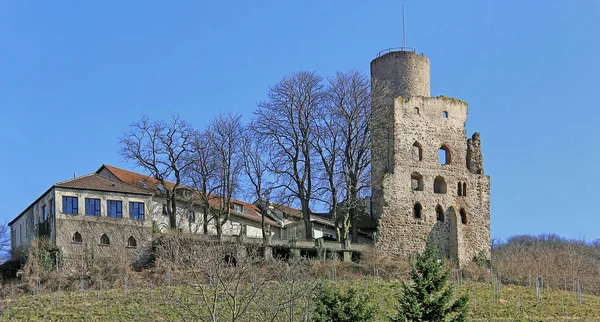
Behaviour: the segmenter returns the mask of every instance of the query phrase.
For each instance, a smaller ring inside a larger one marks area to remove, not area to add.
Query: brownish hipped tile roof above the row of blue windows
[[[105,176],[95,173],[59,182],[55,184],[55,186],[70,189],[86,189],[96,191],[132,193],[139,195],[151,195],[151,193],[149,193],[147,190],[143,190],[136,186],[129,185],[123,182],[112,180]]]

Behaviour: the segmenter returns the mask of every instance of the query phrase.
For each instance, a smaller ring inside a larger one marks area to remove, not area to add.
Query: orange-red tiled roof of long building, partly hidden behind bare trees
[[[103,168],[108,170],[110,173],[112,173],[117,179],[121,180],[122,182],[138,186],[147,191],[157,192],[159,190],[158,187],[161,186],[160,181],[158,181],[150,176],[147,176],[147,175],[144,175],[141,173],[137,173],[137,172],[132,172],[129,170],[120,169],[120,168],[113,167],[113,166],[106,165],[106,164],[102,165],[102,167],[100,167],[100,169],[98,169],[98,171],[96,171],[96,173],[101,172]],[[175,185],[175,184],[173,182],[167,181],[166,185],[167,185],[167,188],[172,188],[173,185]],[[187,188],[185,186],[181,186],[181,187]],[[235,212],[235,213],[233,213],[234,215],[236,215],[238,217],[246,218],[249,220],[253,220],[253,221],[258,221],[258,222],[261,221],[262,215],[260,214],[260,210],[258,209],[258,207],[256,205],[253,205],[253,204],[250,204],[247,202],[243,202],[240,200],[235,200],[235,199],[232,199],[231,201],[242,205],[245,210],[245,212],[243,212],[243,213]],[[209,200],[209,204],[213,208],[216,208],[216,209],[220,208],[219,198],[211,198]],[[267,217],[265,217],[265,223],[267,223],[271,226],[279,226],[279,224],[277,222],[275,222]]]

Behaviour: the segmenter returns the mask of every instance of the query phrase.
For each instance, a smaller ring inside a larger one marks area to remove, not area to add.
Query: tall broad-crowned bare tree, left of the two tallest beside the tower
[[[298,72],[269,89],[268,99],[258,104],[255,130],[269,151],[268,169],[283,186],[284,193],[297,199],[302,210],[306,238],[313,238],[310,221],[314,184],[315,116],[323,102],[321,77]]]

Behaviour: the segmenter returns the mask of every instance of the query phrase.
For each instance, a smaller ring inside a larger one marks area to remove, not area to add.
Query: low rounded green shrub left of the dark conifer
[[[355,288],[340,291],[333,284],[324,284],[315,295],[314,321],[354,322],[373,321],[375,306],[368,296],[359,298]]]

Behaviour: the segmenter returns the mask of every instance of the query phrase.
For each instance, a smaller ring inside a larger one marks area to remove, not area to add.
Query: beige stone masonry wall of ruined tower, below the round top
[[[467,104],[446,97],[397,98],[392,113],[375,119],[372,173],[373,210],[379,214],[378,249],[392,257],[407,257],[420,252],[431,237],[459,264],[472,260],[479,251],[489,256],[490,181],[467,168]],[[415,143],[421,147],[420,161]],[[449,150],[450,164],[438,161],[442,146]],[[388,151],[390,147],[393,151]],[[389,153],[393,154],[391,169],[386,164]],[[422,177],[422,191],[413,190],[413,174]],[[446,193],[434,193],[438,176],[446,182]],[[459,182],[467,184],[466,196],[459,196]],[[420,219],[413,215],[417,202],[422,205]],[[443,221],[436,218],[438,205]],[[466,223],[461,210],[466,212]]]

